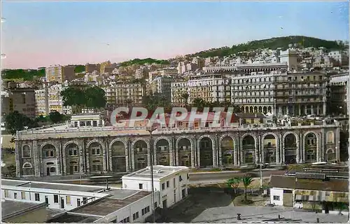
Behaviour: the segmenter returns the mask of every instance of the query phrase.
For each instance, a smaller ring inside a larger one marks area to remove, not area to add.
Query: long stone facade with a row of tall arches
[[[16,136],[17,176],[126,173],[150,165],[239,167],[339,160],[339,123],[245,125],[122,132],[116,128],[23,131]],[[150,141],[151,140],[151,141]]]

